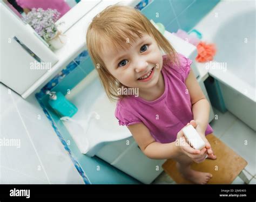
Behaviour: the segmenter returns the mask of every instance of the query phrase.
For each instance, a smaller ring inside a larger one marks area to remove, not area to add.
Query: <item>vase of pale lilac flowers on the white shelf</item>
[[[56,9],[43,10],[33,8],[26,16],[28,23],[51,47],[59,49],[66,43],[66,36],[62,34],[56,24],[60,13]]]

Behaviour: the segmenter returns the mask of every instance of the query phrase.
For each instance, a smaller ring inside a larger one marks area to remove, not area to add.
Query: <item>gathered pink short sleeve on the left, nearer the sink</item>
[[[125,109],[125,107],[120,106],[118,103],[114,115],[118,119],[120,126],[130,126],[142,122],[129,109]]]

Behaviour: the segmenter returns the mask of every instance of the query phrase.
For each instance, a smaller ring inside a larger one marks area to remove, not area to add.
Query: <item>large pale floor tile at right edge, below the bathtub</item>
[[[225,134],[220,138],[240,156],[245,158],[248,165],[246,171],[252,176],[255,175],[255,144],[256,133],[249,128],[245,123],[237,119],[233,126],[228,129]]]

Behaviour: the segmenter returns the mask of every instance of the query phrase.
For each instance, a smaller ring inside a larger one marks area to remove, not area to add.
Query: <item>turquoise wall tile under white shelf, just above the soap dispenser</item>
[[[85,78],[85,73],[80,69],[80,67],[77,67],[66,75],[62,82],[60,82],[56,87],[53,87],[51,91],[60,91],[65,95],[68,92],[68,89],[75,87],[83,78]]]

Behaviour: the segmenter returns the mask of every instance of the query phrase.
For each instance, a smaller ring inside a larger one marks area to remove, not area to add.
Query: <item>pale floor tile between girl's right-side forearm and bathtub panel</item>
[[[213,108],[213,112],[214,112],[214,119],[211,121],[210,125],[214,130],[213,134],[216,137],[220,138],[221,136],[223,136],[225,131],[232,126],[232,124],[237,119],[237,117],[235,117],[233,114],[231,114],[228,111],[225,113],[221,113],[218,109],[215,109],[215,108]],[[217,119],[215,119],[215,115],[218,115],[216,116]]]

